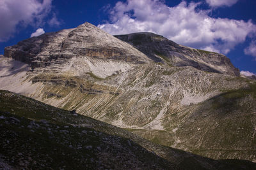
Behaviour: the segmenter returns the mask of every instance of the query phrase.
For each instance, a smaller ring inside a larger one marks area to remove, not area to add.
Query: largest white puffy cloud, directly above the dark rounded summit
[[[111,22],[98,27],[110,34],[154,32],[182,45],[225,54],[256,32],[252,20],[212,18],[211,10],[198,10],[199,5],[182,1],[169,7],[159,0],[118,2],[109,12]]]

